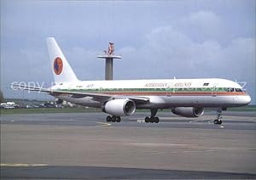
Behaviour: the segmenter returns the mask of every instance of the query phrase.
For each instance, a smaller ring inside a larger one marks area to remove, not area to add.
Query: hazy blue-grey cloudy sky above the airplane
[[[115,43],[113,79],[224,78],[256,102],[255,0],[1,0],[1,90],[49,98],[11,82],[53,82],[46,37],[55,37],[80,80],[103,80],[96,55]]]

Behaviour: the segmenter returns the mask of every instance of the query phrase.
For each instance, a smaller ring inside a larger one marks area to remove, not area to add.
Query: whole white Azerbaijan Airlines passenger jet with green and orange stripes
[[[199,117],[207,108],[217,110],[214,124],[222,123],[222,111],[251,102],[242,87],[219,78],[80,81],[67,62],[54,37],[48,37],[50,65],[55,85],[49,88],[12,84],[13,87],[49,93],[55,98],[100,108],[106,121],[119,122],[121,116],[133,115],[136,110],[150,110],[145,122],[158,123],[158,110],[169,109],[175,115]]]

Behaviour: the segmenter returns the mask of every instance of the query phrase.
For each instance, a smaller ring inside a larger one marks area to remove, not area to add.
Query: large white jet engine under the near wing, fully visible
[[[102,107],[102,111],[110,115],[132,115],[136,110],[136,104],[130,99],[113,99]]]

